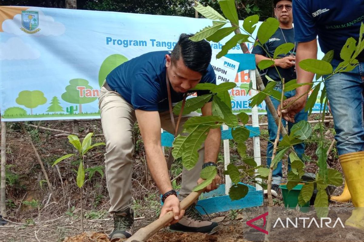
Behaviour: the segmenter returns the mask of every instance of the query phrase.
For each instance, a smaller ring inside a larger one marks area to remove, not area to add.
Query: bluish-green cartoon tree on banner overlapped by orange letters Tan
[[[66,86],[66,92],[62,94],[61,98],[69,103],[79,104],[79,113],[82,113],[82,104],[90,103],[97,99],[94,95],[87,95],[87,91],[92,90],[93,87],[88,85],[88,81],[81,78],[70,80],[70,85]]]

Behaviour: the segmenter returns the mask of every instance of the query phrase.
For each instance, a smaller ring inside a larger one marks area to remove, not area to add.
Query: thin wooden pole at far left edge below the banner
[[[5,164],[6,164],[6,123],[1,122],[1,185],[0,185],[0,214],[6,217],[5,194]]]

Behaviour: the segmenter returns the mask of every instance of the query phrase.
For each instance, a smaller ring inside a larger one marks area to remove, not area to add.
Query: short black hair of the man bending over
[[[179,60],[182,57],[185,66],[193,71],[197,71],[204,75],[211,61],[211,45],[206,40],[192,41],[189,38],[193,34],[181,34],[177,45],[171,52],[171,61]]]

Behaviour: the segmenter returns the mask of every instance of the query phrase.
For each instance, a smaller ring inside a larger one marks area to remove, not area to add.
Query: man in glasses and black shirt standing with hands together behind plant
[[[264,46],[264,49],[261,46],[255,46],[253,48],[252,53],[255,54],[256,58],[256,64],[262,60],[269,60],[270,57],[273,57],[274,50],[278,46],[284,43],[294,43],[294,29],[293,29],[293,16],[292,16],[292,1],[288,0],[274,0],[274,14],[277,17],[277,20],[279,21],[279,28],[277,31],[273,34],[273,36],[266,42],[261,43]],[[259,41],[259,40],[258,40]],[[277,91],[282,91],[282,82],[281,78],[284,78],[285,82],[289,82],[292,79],[296,79],[296,71],[295,71],[295,55],[296,55],[296,44],[294,45],[294,48],[287,54],[287,55],[280,55],[276,60],[274,60],[275,66],[270,66],[267,69],[266,75],[268,75],[270,78],[272,78],[274,81],[277,82],[276,87],[274,87]],[[269,55],[266,53],[268,52]],[[277,73],[277,70],[279,71],[279,74]],[[296,94],[295,90],[287,91],[284,93],[286,98],[293,97]],[[277,108],[280,104],[280,101],[272,98],[271,100],[274,104],[274,106]],[[270,166],[270,163],[272,161],[272,153],[273,153],[273,143],[274,140],[277,137],[277,124],[274,121],[274,118],[272,114],[269,112],[268,108],[267,110],[267,116],[268,116],[268,131],[269,131],[269,141],[267,146],[267,164]],[[307,120],[307,112],[302,110],[299,112],[295,117],[294,121],[299,122],[301,120]],[[282,123],[285,125],[286,121],[282,120]],[[292,127],[293,123],[288,122],[288,132],[290,132],[290,128]],[[282,137],[280,138],[280,140]],[[305,151],[305,145],[304,143],[294,145],[294,149],[296,150],[298,156],[302,156],[302,154]],[[288,164],[290,164],[290,161],[288,159]],[[290,170],[290,165],[288,165],[288,169]],[[278,196],[278,186],[281,183],[282,180],[282,162],[280,161],[277,165],[277,168],[273,171],[273,177],[272,177],[272,195],[274,197]],[[266,194],[268,191],[264,190],[264,193]]]

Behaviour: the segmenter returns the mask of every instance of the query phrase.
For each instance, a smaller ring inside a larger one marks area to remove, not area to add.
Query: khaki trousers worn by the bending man
[[[99,108],[102,129],[106,141],[105,169],[107,190],[110,195],[111,207],[109,212],[118,212],[129,208],[131,202],[131,173],[132,153],[134,144],[132,131],[136,122],[135,110],[131,104],[124,100],[119,93],[108,91],[104,87],[100,90]],[[161,127],[163,130],[174,133],[169,111],[161,112]],[[191,112],[182,116],[178,133],[182,131],[182,125],[191,116],[199,116],[197,112]],[[178,116],[174,116],[177,124]],[[183,168],[182,184],[179,190],[179,200],[190,194],[197,185],[199,173],[202,169],[204,146],[199,149],[199,160],[196,166],[188,171]]]

